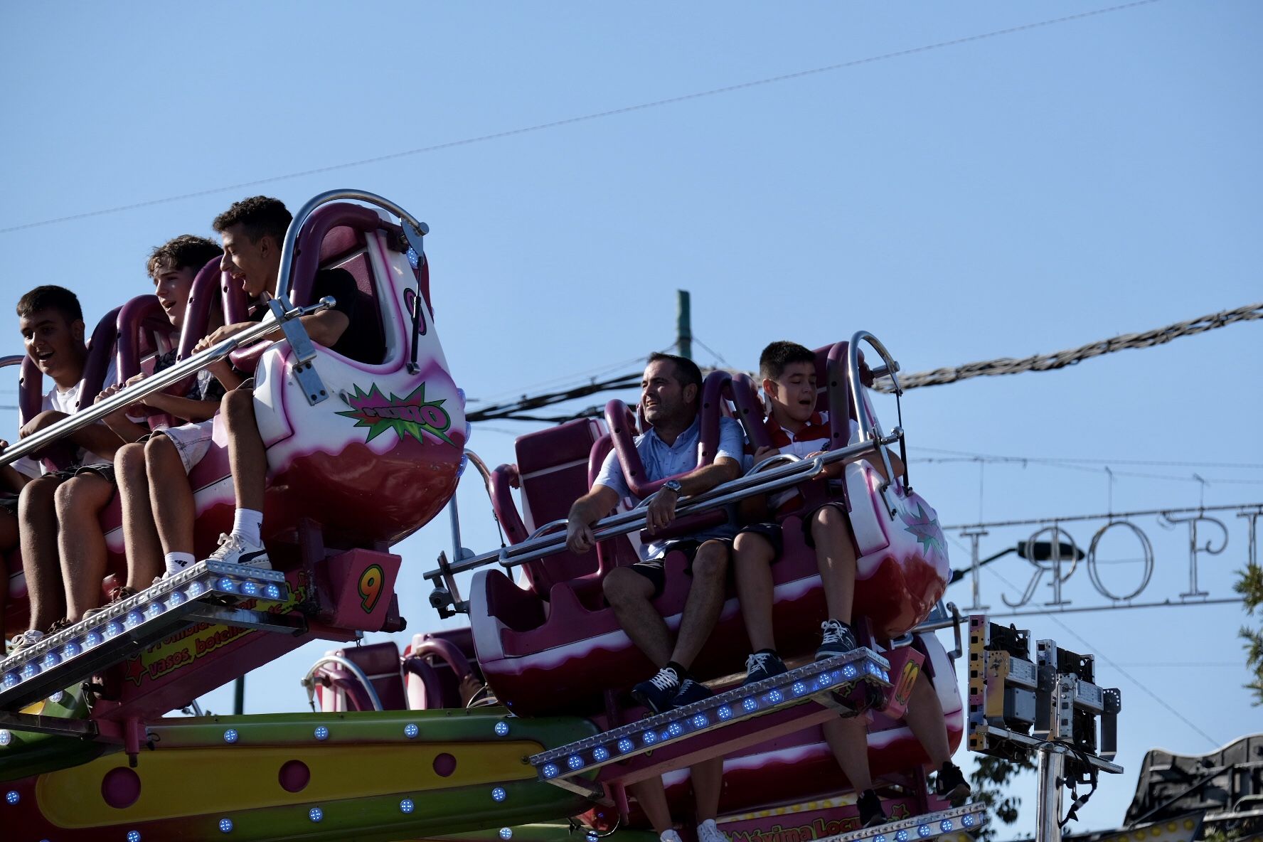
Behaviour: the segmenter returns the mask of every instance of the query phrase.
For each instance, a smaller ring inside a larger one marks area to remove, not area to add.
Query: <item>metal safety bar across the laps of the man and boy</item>
[[[897,441],[898,436],[892,434],[885,438],[860,442],[859,444],[851,444],[836,451],[829,451],[812,460],[802,460],[792,465],[784,465],[764,471],[762,473],[748,473],[738,480],[715,486],[710,491],[705,491],[691,497],[681,497],[678,505],[676,506],[676,516],[683,518],[687,515],[695,515],[703,510],[733,504],[746,497],[796,486],[805,480],[818,476],[830,465],[858,462],[875,451],[879,451],[882,447],[892,444]],[[594,524],[594,535],[597,542],[608,538],[615,538],[618,535],[625,535],[635,531],[637,529],[643,529],[645,519],[647,515],[642,507],[610,515],[609,518],[599,520]],[[561,521],[544,524],[536,531],[539,533],[547,529],[556,529],[560,523]],[[533,562],[547,555],[560,553],[565,548],[565,535],[538,535],[524,540],[520,544],[513,544],[499,550],[472,555],[466,559],[457,559],[455,563],[446,566],[446,569],[440,568],[428,571],[424,574],[424,578],[433,581],[443,576],[452,576],[456,573],[464,573],[465,571],[477,569],[491,564],[493,562],[499,562],[503,567],[513,568],[519,564],[525,564],[527,562]]]

